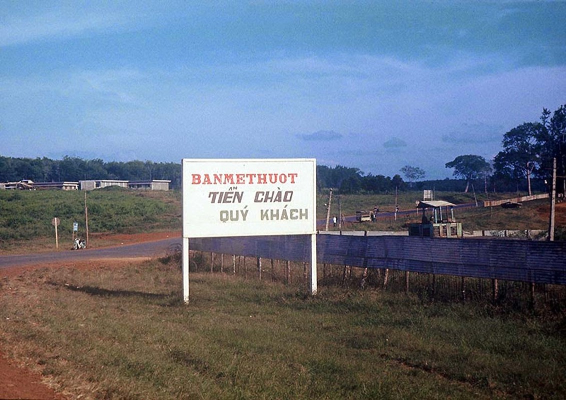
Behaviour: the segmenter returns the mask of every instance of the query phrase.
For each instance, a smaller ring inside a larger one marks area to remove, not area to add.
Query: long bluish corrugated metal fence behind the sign
[[[310,260],[310,236],[190,239],[191,250]],[[566,285],[566,242],[317,235],[321,264]]]

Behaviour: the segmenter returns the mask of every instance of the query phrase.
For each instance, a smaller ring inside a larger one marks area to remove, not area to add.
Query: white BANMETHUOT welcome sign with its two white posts
[[[188,302],[188,239],[311,235],[316,294],[316,160],[182,160],[183,298]]]

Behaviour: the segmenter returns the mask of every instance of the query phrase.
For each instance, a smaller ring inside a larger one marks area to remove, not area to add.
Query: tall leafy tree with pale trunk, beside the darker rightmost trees
[[[500,173],[513,174],[527,179],[529,195],[531,176],[541,161],[541,144],[538,139],[544,135],[544,125],[539,122],[525,122],[503,135],[503,150],[494,158],[495,169]]]

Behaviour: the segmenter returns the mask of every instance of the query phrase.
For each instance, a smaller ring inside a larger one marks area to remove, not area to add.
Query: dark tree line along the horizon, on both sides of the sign
[[[340,193],[392,193],[395,190],[436,190],[514,192],[548,191],[553,160],[557,165],[558,193],[566,192],[566,105],[551,113],[543,109],[539,122],[525,122],[503,135],[503,150],[487,161],[475,154],[464,154],[447,162],[456,179],[424,180],[419,167],[405,165],[399,174],[364,174],[358,168],[337,165],[316,166],[317,188],[333,188]],[[78,181],[84,179],[171,180],[171,188],[181,188],[181,164],[174,162],[105,162],[78,157],[12,158],[0,156],[0,182],[32,179],[35,182]]]

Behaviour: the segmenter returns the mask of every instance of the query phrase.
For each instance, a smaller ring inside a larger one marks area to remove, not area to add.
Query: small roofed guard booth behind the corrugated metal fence
[[[409,225],[409,236],[428,238],[462,238],[462,223],[454,218],[455,204],[443,200],[419,201],[421,223]]]

